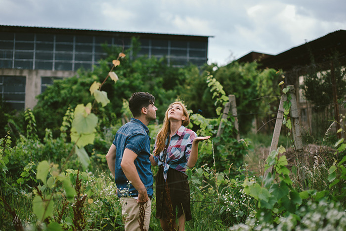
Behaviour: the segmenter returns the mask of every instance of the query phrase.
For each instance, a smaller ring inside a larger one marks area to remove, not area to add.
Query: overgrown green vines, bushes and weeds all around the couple
[[[312,154],[307,149],[303,155],[311,162],[302,167],[290,137],[281,141],[285,147],[261,160],[245,161],[256,159],[263,137],[249,139],[241,131],[236,139],[232,116],[222,120],[223,133],[216,137],[227,94],[236,94],[244,114],[272,110],[274,97],[266,103],[252,99],[279,95],[279,72],[236,62],[217,71],[215,65],[202,71],[193,66],[173,69],[164,59],[128,60],[119,52],[111,48],[110,57],[92,73],[55,82],[33,111],[25,111],[22,125],[9,122],[19,132],[7,127],[10,132],[0,139],[1,230],[124,229],[105,154],[130,117],[124,99],[135,91],[153,93],[159,110],[175,98],[184,100],[191,108],[191,128],[212,136],[199,146],[197,167],[187,170],[193,219],[186,230],[346,229],[344,139]],[[241,118],[248,130],[250,117]],[[289,117],[285,121],[289,124]],[[159,116],[149,125],[152,138],[160,126]],[[270,167],[273,171],[265,177],[259,174]],[[303,179],[297,171],[303,171]],[[155,200],[152,210],[149,230],[161,230]]]

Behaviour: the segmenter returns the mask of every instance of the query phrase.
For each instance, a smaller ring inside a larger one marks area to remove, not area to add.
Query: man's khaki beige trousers
[[[120,197],[120,204],[122,207],[122,215],[126,231],[137,231],[139,228],[139,204],[133,197]],[[144,227],[149,230],[150,213],[151,213],[151,199],[144,204]]]

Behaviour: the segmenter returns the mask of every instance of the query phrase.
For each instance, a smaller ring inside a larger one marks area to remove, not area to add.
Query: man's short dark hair
[[[140,116],[143,107],[155,102],[155,97],[148,92],[134,92],[129,100],[129,107],[133,117]]]

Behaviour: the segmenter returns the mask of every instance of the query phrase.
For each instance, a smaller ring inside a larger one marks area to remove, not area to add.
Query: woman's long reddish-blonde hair
[[[182,107],[183,115],[186,117],[186,119],[182,121],[181,125],[186,127],[190,123],[189,113],[187,113],[184,104],[182,104],[182,102],[179,101],[171,103],[170,106],[168,106],[168,109],[165,113],[165,119],[162,128],[160,129],[156,137],[156,148],[153,152],[154,156],[158,156],[164,150],[168,133],[171,132],[171,122],[168,120],[168,111],[170,110],[173,104],[179,104]]]

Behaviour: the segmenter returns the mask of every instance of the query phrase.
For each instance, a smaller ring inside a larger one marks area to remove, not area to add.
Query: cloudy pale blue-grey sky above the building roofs
[[[0,25],[211,36],[223,66],[346,30],[346,0],[0,0]]]

